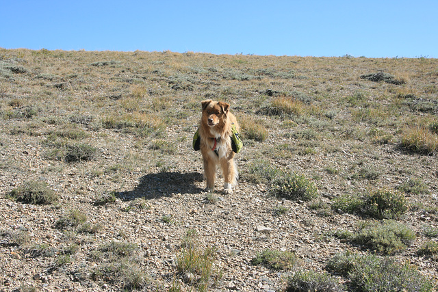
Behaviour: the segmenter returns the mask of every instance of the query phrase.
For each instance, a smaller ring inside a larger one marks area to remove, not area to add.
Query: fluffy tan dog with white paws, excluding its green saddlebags
[[[222,101],[201,102],[203,114],[199,127],[201,137],[201,153],[204,161],[204,177],[207,179],[207,190],[214,189],[216,165],[220,165],[224,176],[224,192],[231,194],[237,183],[237,168],[234,152],[231,148],[231,125],[239,131],[239,124],[230,112],[230,105]],[[216,140],[216,148],[215,148]]]

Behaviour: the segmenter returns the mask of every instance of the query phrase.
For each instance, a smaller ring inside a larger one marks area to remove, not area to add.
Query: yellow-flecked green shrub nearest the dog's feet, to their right
[[[272,180],[270,193],[289,200],[309,201],[318,197],[318,188],[304,175],[283,173]]]

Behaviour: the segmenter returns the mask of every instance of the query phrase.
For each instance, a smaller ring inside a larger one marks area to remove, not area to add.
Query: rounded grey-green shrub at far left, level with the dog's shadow
[[[25,204],[53,204],[59,199],[59,195],[43,181],[25,181],[12,189],[9,196]]]

